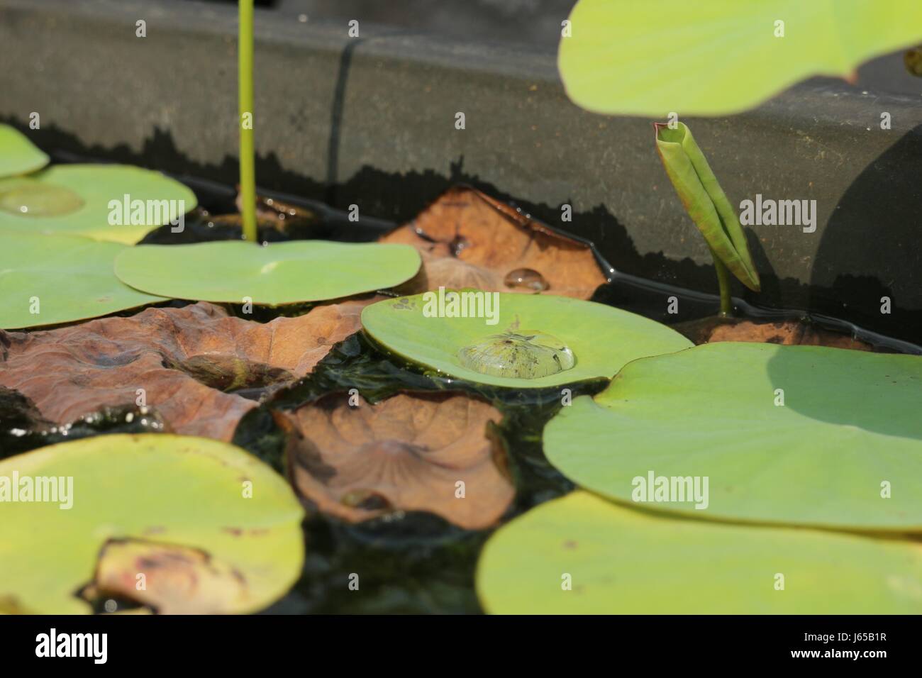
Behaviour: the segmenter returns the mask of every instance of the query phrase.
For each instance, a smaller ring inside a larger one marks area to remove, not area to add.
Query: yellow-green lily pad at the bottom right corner
[[[477,566],[499,614],[918,614],[920,581],[912,541],[660,517],[581,491],[503,526]]]

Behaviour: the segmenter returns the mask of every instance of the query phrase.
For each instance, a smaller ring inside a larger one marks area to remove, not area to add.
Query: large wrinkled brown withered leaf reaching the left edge
[[[239,392],[309,373],[361,327],[361,309],[376,300],[320,305],[266,324],[202,302],[48,331],[0,331],[0,386],[30,398],[55,423],[137,404],[155,408],[175,433],[230,440],[256,406]]]

